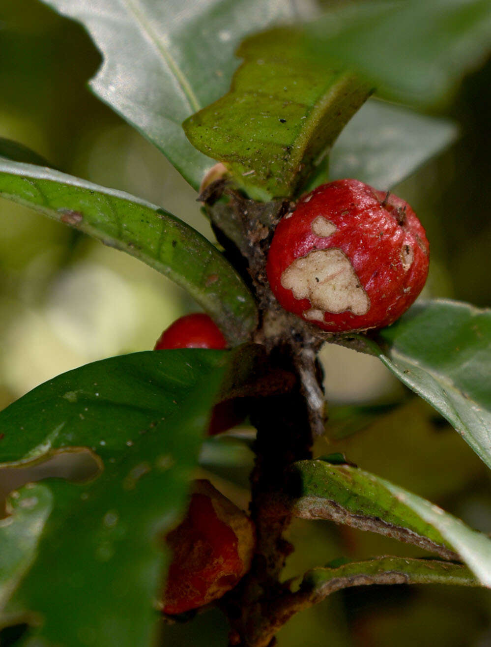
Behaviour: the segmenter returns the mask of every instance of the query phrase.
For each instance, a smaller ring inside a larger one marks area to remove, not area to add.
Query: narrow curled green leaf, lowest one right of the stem
[[[336,568],[316,568],[305,574],[302,588],[311,592],[312,602],[350,586],[369,584],[457,584],[479,586],[472,572],[460,564],[438,560],[378,557],[349,562]]]

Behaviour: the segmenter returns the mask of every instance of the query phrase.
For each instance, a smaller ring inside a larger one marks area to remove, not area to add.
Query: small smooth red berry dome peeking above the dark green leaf
[[[171,348],[214,348],[223,350],[226,340],[213,319],[204,313],[186,314],[171,323],[155,344],[155,351]]]

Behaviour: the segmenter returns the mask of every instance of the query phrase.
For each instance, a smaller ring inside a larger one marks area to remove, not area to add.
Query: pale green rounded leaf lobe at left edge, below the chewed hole
[[[40,484],[27,485],[8,498],[8,517],[0,520],[0,626],[6,601],[36,556],[52,503],[50,489]]]

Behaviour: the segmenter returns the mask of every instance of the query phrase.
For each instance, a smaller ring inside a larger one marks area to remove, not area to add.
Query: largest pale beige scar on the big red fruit
[[[295,259],[281,275],[281,285],[296,299],[311,302],[311,309],[302,313],[306,319],[323,321],[325,313],[360,315],[370,309],[367,293],[340,249],[315,250]]]

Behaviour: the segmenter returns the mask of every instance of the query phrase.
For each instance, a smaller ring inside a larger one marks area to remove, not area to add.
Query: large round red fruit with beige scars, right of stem
[[[281,219],[267,274],[285,310],[342,333],[395,322],[422,290],[428,263],[409,204],[348,179],[319,186]]]

